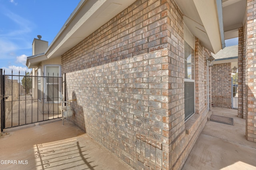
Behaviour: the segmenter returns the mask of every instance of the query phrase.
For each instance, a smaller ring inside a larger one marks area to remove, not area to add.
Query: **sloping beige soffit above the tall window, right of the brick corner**
[[[176,0],[191,33],[213,53],[224,48],[216,0]]]

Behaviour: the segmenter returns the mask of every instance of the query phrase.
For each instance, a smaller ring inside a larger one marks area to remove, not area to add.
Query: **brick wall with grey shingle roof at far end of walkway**
[[[238,45],[225,47],[216,55],[212,67],[212,106],[232,107],[232,68],[238,67]]]

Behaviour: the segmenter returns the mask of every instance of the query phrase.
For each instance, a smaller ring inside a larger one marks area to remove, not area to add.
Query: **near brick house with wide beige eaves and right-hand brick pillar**
[[[254,3],[81,0],[46,51],[26,65],[43,69],[61,60],[64,95],[76,99],[70,120],[124,162],[181,169],[211,115],[207,59],[224,39],[239,37],[238,97],[246,97],[238,114],[250,119],[246,138],[256,142]]]

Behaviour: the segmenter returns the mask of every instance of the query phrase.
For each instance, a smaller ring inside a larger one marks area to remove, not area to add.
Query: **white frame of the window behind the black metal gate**
[[[60,92],[60,90],[61,90],[61,82],[59,82],[60,81],[59,78],[58,78],[58,82],[57,83],[47,83],[48,73],[46,72],[46,70],[47,70],[46,68],[50,67],[50,66],[58,66],[59,67],[59,74],[58,73],[57,73],[57,75],[54,74],[54,77],[55,76],[56,77],[60,77],[60,75],[61,75],[61,65],[60,64],[47,64],[47,65],[44,65],[44,93],[43,93],[43,95],[44,95],[44,102],[60,104],[61,103],[60,99],[58,99],[58,101],[47,101],[47,98],[45,97],[45,96],[47,96],[47,93],[48,93],[47,88],[46,88],[47,85],[52,85],[52,84],[59,84],[58,96],[61,95],[61,92]],[[49,75],[49,77],[52,77],[52,75]]]

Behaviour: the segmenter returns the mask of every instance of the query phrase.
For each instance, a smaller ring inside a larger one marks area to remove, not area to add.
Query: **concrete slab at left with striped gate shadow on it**
[[[0,150],[4,170],[132,170],[68,121],[4,133]]]

